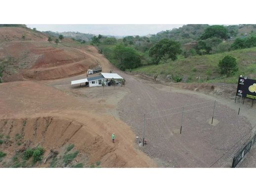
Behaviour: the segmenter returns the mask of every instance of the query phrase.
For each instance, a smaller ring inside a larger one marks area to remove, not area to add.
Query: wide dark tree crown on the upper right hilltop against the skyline
[[[213,25],[205,29],[201,36],[201,39],[208,39],[211,37],[219,37],[221,39],[226,39],[228,30],[222,25]]]

